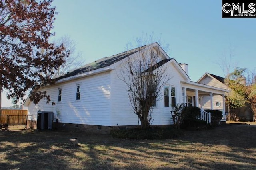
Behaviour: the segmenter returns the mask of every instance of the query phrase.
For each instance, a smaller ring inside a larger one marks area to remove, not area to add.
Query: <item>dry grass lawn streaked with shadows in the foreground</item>
[[[78,138],[72,147],[69,139]],[[256,125],[229,123],[168,140],[0,131],[0,169],[256,169]]]

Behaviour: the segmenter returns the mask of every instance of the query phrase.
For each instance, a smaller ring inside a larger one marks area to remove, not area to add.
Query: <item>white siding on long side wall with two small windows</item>
[[[76,100],[77,84],[80,84],[81,89],[80,100]],[[58,88],[62,88],[61,102],[58,102]],[[38,109],[41,109],[41,111],[53,111],[55,118],[61,123],[109,125],[110,72],[56,84],[47,87],[46,90],[56,105],[46,104],[44,100],[37,105],[30,102],[29,117],[37,115]]]

